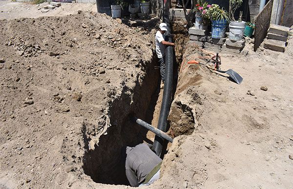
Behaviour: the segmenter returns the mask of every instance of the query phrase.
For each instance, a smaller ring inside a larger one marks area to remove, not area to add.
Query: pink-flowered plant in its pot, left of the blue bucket
[[[207,13],[211,5],[203,0],[198,0],[197,2],[198,3],[195,5],[195,8],[192,10],[193,12],[195,12],[194,27],[197,29],[205,30],[210,24],[210,19]]]

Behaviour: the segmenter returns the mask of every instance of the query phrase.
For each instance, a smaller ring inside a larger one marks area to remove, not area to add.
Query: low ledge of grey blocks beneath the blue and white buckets
[[[232,54],[240,54],[245,46],[245,40],[231,41],[228,38],[211,38],[207,30],[189,28],[190,42],[214,52],[228,52]]]

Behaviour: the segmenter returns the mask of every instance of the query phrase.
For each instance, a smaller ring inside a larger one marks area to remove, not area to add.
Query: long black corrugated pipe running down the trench
[[[172,42],[171,38],[171,27],[170,27],[170,20],[168,16],[163,17],[163,22],[167,24],[167,31],[166,31],[166,40],[168,42]],[[160,117],[158,122],[158,129],[167,132],[167,117],[171,107],[171,99],[172,99],[172,86],[173,86],[173,47],[167,46],[166,47],[166,62],[165,62],[165,83],[164,83],[164,92],[163,92],[163,99],[160,111]],[[158,135],[155,136],[154,140],[154,151],[158,156],[161,156],[161,152],[163,149],[164,139]]]

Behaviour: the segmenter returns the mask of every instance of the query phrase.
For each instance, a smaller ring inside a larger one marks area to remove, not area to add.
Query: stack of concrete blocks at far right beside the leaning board
[[[285,52],[289,30],[289,27],[271,24],[264,47],[273,51]]]

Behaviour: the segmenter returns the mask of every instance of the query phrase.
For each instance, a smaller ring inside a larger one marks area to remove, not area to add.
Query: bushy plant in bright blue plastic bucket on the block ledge
[[[212,4],[207,14],[211,19],[211,38],[224,38],[229,14],[217,4]]]

